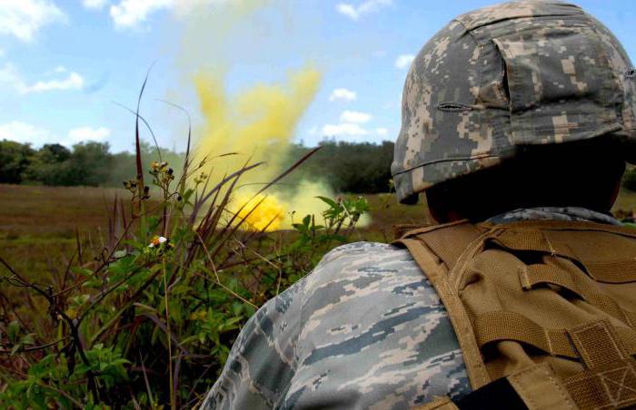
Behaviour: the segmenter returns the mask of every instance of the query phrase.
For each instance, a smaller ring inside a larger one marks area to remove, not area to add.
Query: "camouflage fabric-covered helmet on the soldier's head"
[[[602,136],[633,161],[635,77],[618,40],[576,5],[520,1],[457,17],[406,78],[391,167],[398,200],[414,203],[523,145]]]

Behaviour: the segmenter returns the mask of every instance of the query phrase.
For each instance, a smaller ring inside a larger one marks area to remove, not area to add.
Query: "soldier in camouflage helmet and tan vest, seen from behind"
[[[204,407],[635,405],[636,230],[610,213],[635,87],[575,5],[447,24],[412,63],[392,166],[442,225],[328,253],[247,322]]]

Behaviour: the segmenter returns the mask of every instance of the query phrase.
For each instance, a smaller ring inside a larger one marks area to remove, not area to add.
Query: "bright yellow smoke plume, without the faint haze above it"
[[[257,84],[229,96],[224,91],[222,75],[206,72],[194,78],[204,116],[203,137],[197,142],[197,151],[213,156],[228,152],[241,154],[214,160],[210,164],[214,168],[209,170],[213,181],[243,166],[246,156],[252,162],[265,162],[244,174],[230,206],[246,220],[248,228],[289,229],[304,215],[320,215],[323,202],[315,199],[316,196],[332,195],[323,184],[305,181],[292,190],[273,187],[254,197],[264,183],[284,171],[283,161],[296,125],[313,101],[320,79],[318,71],[304,68],[290,73],[284,84]],[[223,165],[219,161],[223,161]]]

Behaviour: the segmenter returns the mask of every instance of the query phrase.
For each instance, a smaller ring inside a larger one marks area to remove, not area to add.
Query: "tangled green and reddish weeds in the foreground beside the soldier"
[[[178,178],[161,160],[143,170],[138,112],[130,203],[114,200],[104,246],[84,249],[78,235],[67,266],[48,278],[0,257],[3,408],[199,405],[244,321],[347,241],[368,210],[362,198],[320,198],[323,214],[291,231],[253,229],[246,220],[267,190],[313,151],[232,212],[242,177],[263,164],[211,181],[202,170],[215,159],[194,161],[188,132]]]

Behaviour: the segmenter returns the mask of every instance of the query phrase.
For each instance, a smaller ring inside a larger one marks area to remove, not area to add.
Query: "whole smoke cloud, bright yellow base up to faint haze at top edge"
[[[201,123],[194,130],[195,153],[213,157],[239,153],[211,161],[205,171],[213,181],[218,181],[225,173],[241,168],[248,158],[252,162],[266,162],[245,174],[231,205],[237,211],[249,202],[240,215],[246,217],[247,225],[253,229],[288,229],[304,215],[319,216],[323,202],[315,197],[333,196],[323,183],[303,181],[296,187],[274,186],[265,192],[265,197],[254,198],[254,194],[284,171],[296,126],[318,92],[322,74],[305,63],[302,68],[289,71],[282,81],[241,84],[240,91],[233,92],[228,75],[233,67],[241,68],[242,64],[236,61],[236,55],[268,51],[259,42],[254,15],[266,9],[270,15],[276,15],[277,5],[266,0],[214,2],[214,5],[202,1],[194,6],[195,3],[189,4],[187,15],[181,15],[185,27],[178,61],[184,78],[194,84],[199,101]],[[234,35],[244,39],[238,54],[228,46],[235,44]],[[267,77],[265,74],[268,73],[263,73],[263,77]],[[260,200],[263,202],[259,208],[247,216],[247,210]]]

